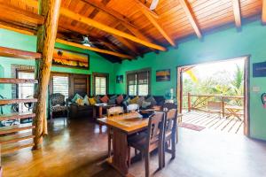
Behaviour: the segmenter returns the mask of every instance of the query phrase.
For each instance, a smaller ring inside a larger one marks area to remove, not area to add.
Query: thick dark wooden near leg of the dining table
[[[122,174],[130,176],[128,161],[128,135],[113,128],[113,159],[111,165]]]

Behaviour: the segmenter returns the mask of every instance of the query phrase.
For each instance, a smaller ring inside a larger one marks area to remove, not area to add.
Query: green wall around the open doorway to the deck
[[[115,64],[115,74],[124,75],[127,71],[145,67],[152,68],[152,94],[164,95],[170,88],[176,89],[176,67],[191,65],[223,58],[237,58],[251,55],[250,63],[266,61],[266,27],[260,21],[254,21],[242,27],[241,32],[229,28],[214,34],[206,35],[203,41],[193,39],[178,44],[177,49],[167,52],[148,53],[144,58],[123,61]],[[160,69],[171,69],[171,81],[156,82],[155,72]],[[250,71],[250,130],[251,136],[266,140],[266,109],[262,108],[261,94],[266,92],[266,78],[253,78]],[[115,83],[115,93],[126,93],[126,81]],[[260,87],[259,93],[252,92],[253,87]]]

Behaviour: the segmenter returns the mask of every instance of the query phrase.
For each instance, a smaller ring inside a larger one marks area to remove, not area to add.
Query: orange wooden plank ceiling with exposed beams
[[[125,55],[103,54],[117,62],[166,50],[190,35],[202,38],[207,30],[226,24],[235,23],[239,28],[246,18],[262,14],[262,22],[266,22],[263,1],[160,0],[151,11],[152,0],[62,0],[58,38],[71,44],[82,42],[86,35],[92,48]],[[35,33],[43,20],[34,16],[36,0],[0,0],[0,12],[0,27],[29,33]]]

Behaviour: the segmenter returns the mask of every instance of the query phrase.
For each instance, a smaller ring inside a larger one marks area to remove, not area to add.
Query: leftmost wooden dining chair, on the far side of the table
[[[111,118],[112,116],[122,114],[123,112],[124,112],[124,110],[121,106],[111,107],[111,108],[107,109],[107,119]],[[111,157],[112,140],[113,140],[112,128],[108,128],[107,132],[108,132],[108,157]]]

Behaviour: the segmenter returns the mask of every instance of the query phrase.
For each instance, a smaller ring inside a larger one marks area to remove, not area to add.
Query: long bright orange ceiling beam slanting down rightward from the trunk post
[[[82,22],[84,24],[87,24],[87,25],[89,25],[91,27],[96,27],[99,30],[105,31],[106,33],[113,34],[113,35],[118,35],[118,36],[127,38],[127,39],[129,39],[129,40],[131,40],[133,42],[141,43],[141,44],[145,45],[146,47],[150,47],[150,48],[153,48],[153,49],[156,49],[156,50],[166,50],[166,48],[164,48],[164,47],[162,47],[160,45],[154,44],[152,42],[146,42],[144,40],[141,40],[141,39],[137,38],[136,36],[129,35],[129,34],[125,33],[125,32],[117,30],[117,29],[115,29],[113,27],[108,27],[105,24],[102,24],[102,23],[98,22],[97,20],[84,17],[84,16],[80,15],[79,13],[75,13],[75,12],[69,11],[66,8],[61,8],[60,9],[60,13],[61,13],[61,15],[66,16],[67,18],[77,20],[77,21]]]

